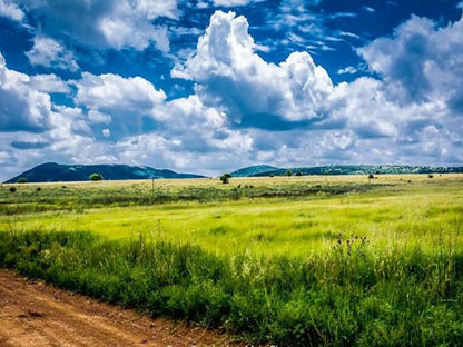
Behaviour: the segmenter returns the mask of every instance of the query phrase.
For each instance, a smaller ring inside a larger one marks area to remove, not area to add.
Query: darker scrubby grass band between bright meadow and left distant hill
[[[304,181],[268,185],[265,179],[259,185],[217,185],[215,181],[203,186],[180,186],[157,184],[151,190],[146,181],[132,185],[92,186],[90,182],[71,185],[9,185],[0,187],[0,215],[16,216],[49,210],[83,211],[89,208],[152,206],[171,202],[213,202],[254,198],[297,198],[339,196],[347,192],[368,191],[375,186],[366,182],[309,185]],[[386,186],[381,184],[378,186]],[[38,190],[38,187],[40,190]]]

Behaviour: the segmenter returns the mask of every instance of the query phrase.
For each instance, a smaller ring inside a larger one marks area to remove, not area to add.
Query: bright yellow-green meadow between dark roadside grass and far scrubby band
[[[381,247],[420,245],[434,251],[440,234],[453,237],[455,247],[463,248],[456,235],[463,216],[462,187],[426,181],[406,190],[397,185],[341,196],[0,214],[0,230],[88,230],[110,239],[140,232],[148,239],[195,244],[213,254],[246,250],[303,257],[325,251],[343,232],[367,236]]]

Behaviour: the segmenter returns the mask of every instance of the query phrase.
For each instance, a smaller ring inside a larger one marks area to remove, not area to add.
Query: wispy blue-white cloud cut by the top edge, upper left
[[[166,28],[154,26],[159,17],[177,18],[177,0],[24,0],[24,8],[45,34],[98,48],[144,50],[154,43],[169,50]]]

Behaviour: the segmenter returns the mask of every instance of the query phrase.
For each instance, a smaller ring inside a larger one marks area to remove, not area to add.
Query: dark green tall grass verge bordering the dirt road
[[[463,252],[341,235],[309,258],[215,256],[90,232],[0,232],[0,266],[152,316],[280,346],[457,346]]]

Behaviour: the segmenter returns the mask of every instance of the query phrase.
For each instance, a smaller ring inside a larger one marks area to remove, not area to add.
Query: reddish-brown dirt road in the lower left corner
[[[200,328],[174,327],[0,269],[0,346],[227,346]]]

